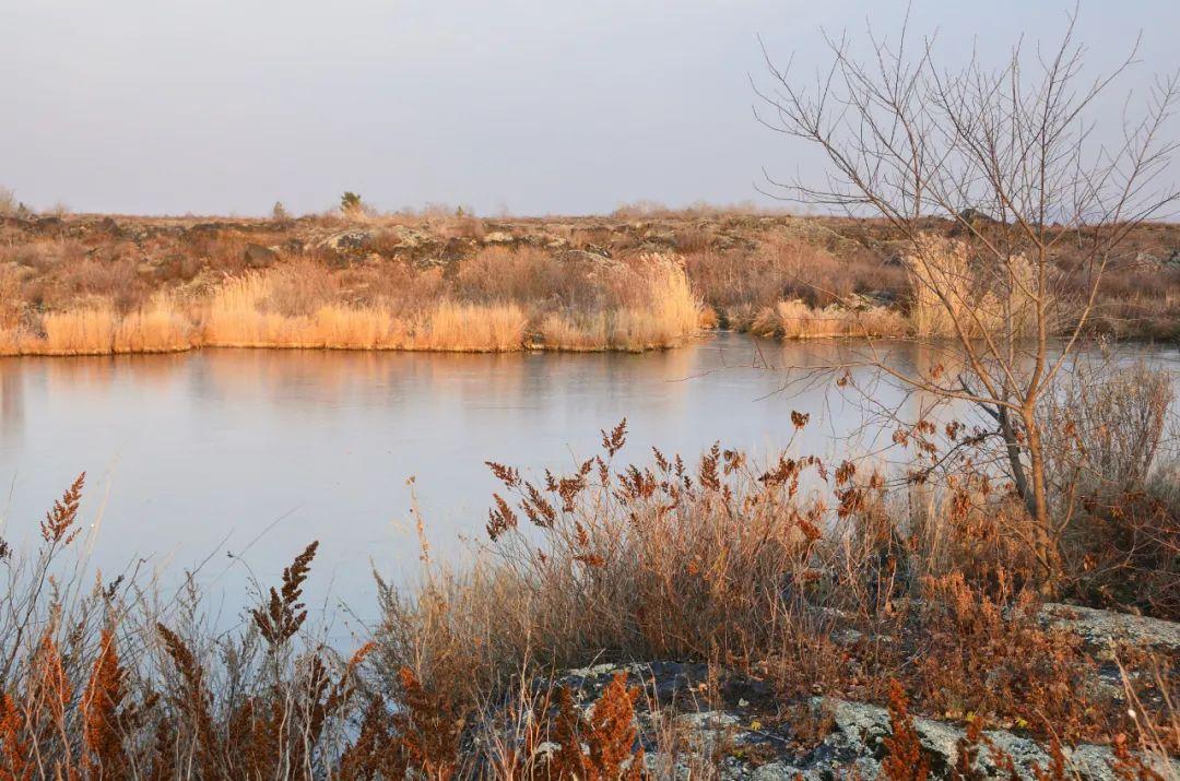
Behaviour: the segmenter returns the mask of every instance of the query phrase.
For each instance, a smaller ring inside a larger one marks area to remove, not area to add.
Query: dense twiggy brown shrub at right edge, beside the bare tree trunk
[[[1082,366],[1044,402],[1044,419],[1055,514],[1068,524],[1062,554],[1084,572],[1080,598],[1180,619],[1180,484],[1175,464],[1159,464],[1169,460],[1172,382],[1141,363]]]

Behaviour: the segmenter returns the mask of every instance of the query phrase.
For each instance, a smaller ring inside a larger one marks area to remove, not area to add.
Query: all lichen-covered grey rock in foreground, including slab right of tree
[[[1110,656],[1115,644],[1129,643],[1180,663],[1180,623],[1061,604],[1047,605],[1042,619],[1077,632],[1100,658]],[[598,664],[570,670],[558,683],[575,693],[579,708],[589,709],[620,672],[643,691],[636,714],[644,761],[660,776],[670,767],[676,777],[696,777],[694,764],[699,773],[701,762],[722,779],[750,781],[873,779],[880,773],[891,727],[890,713],[878,705],[817,696],[785,715],[763,682],[703,663]],[[1102,677],[1096,685],[1119,685],[1116,669]],[[945,777],[966,734],[964,726],[917,716],[913,727],[932,775]],[[684,747],[677,756],[662,752],[667,740],[656,737],[667,736],[669,728]],[[1012,759],[1023,779],[1051,763],[1047,747],[1020,730],[985,729],[983,735]],[[1066,747],[1064,753],[1079,779],[1117,777],[1108,746]],[[985,777],[1008,777],[989,748],[981,749],[976,768]],[[1158,769],[1163,779],[1180,777],[1180,757],[1173,757],[1171,768]]]

